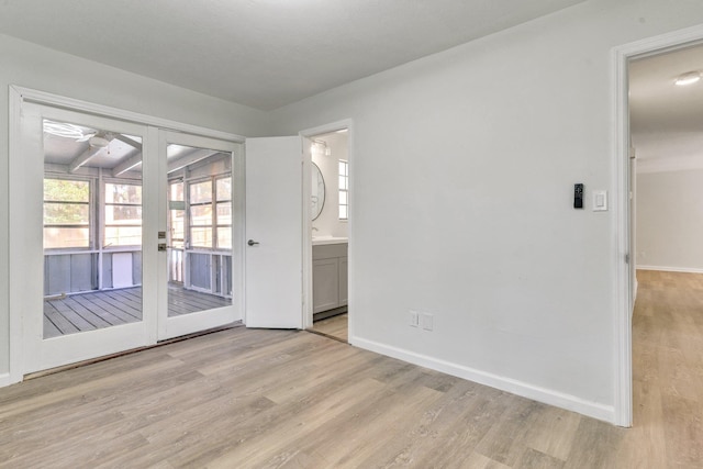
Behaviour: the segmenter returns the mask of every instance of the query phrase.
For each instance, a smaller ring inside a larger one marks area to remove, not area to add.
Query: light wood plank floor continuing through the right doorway
[[[701,468],[703,276],[639,281],[634,428],[237,327],[0,389],[0,466]]]

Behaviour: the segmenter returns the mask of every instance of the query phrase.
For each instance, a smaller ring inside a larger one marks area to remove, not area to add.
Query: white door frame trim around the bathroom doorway
[[[312,144],[313,137],[326,134],[331,132],[341,131],[343,129],[347,130],[347,163],[349,169],[349,213],[347,221],[347,235],[349,238],[348,242],[348,279],[347,279],[347,288],[348,288],[348,300],[347,300],[347,311],[348,311],[348,342],[349,344],[354,344],[354,305],[355,301],[355,276],[354,270],[356,263],[354,261],[354,253],[355,253],[355,243],[354,243],[354,220],[356,213],[356,204],[354,202],[355,193],[356,193],[356,178],[354,171],[354,121],[352,119],[344,119],[341,121],[332,122],[328,124],[320,125],[312,129],[305,129],[299,132],[299,135],[302,139],[303,144],[303,187],[302,187],[302,202],[303,202],[303,328],[312,327],[313,322],[313,297],[312,297],[312,217],[310,213],[310,193],[312,192],[312,180],[311,180],[311,169],[312,169],[312,154],[310,152],[310,145]]]

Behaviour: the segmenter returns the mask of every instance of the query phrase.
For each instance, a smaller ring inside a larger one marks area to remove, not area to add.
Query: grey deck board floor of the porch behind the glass
[[[169,286],[168,315],[232,304],[231,299]],[[44,301],[44,338],[142,321],[142,288],[91,291]]]

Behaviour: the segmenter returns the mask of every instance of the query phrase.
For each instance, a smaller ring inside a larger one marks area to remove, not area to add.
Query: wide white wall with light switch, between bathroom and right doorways
[[[354,121],[352,342],[613,418],[615,220],[590,205],[613,194],[612,48],[701,22],[700,0],[592,0],[274,111],[279,134]]]

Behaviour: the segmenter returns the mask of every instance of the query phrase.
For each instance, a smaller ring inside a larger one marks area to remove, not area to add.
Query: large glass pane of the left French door
[[[42,124],[43,337],[142,321],[142,137]]]

